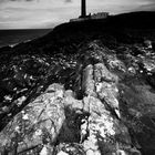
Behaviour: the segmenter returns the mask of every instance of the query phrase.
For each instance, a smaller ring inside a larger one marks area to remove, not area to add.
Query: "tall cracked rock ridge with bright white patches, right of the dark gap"
[[[92,44],[89,46],[92,48]],[[103,52],[102,55],[104,54]],[[83,142],[84,151],[86,155],[116,154],[118,149],[127,154],[127,149],[131,148],[131,138],[127,128],[120,122],[116,86],[118,78],[107,70],[101,59],[97,62],[96,59],[102,55],[101,51],[96,51],[95,56],[87,52],[86,56],[91,58],[91,61],[83,70],[84,111],[90,114],[82,125],[83,134],[86,135],[89,132],[87,138]],[[84,137],[84,135],[81,136]]]

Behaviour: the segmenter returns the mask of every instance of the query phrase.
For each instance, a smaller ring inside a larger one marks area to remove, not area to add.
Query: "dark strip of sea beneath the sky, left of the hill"
[[[52,29],[0,30],[0,48],[31,41],[45,35],[50,31]]]

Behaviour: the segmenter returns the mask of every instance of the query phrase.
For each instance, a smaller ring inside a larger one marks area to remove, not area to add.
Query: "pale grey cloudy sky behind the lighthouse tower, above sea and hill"
[[[155,0],[86,0],[89,13],[154,11]],[[0,0],[0,29],[53,28],[81,13],[81,0]]]

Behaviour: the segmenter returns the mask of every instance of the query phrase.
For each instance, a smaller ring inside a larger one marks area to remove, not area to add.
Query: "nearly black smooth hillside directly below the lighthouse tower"
[[[42,43],[58,44],[61,46],[65,43],[80,43],[89,39],[111,38],[108,41],[116,42],[142,42],[143,38],[155,35],[155,12],[134,12],[110,17],[104,20],[89,20],[83,22],[63,23],[56,27],[46,37],[34,41],[34,44]],[[153,30],[152,30],[153,29]],[[135,32],[136,31],[136,35]]]

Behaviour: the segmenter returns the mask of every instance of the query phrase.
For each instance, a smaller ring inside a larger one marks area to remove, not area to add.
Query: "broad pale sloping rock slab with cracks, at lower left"
[[[50,85],[46,91],[25,106],[0,135],[0,146],[11,154],[22,154],[40,145],[56,141],[65,120],[63,89]],[[35,151],[30,151],[35,154]]]

